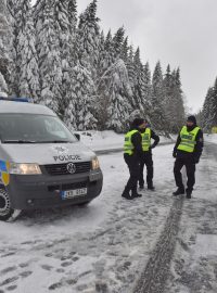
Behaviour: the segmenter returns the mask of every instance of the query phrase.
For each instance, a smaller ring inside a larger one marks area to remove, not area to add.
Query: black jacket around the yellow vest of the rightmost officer
[[[195,127],[197,127],[196,125],[193,125],[192,127],[188,127],[187,126],[187,131],[192,131]],[[174,156],[176,156],[177,158],[182,158],[182,157],[194,157],[194,161],[197,163],[200,157],[201,157],[201,154],[203,152],[203,145],[204,145],[204,140],[203,140],[203,131],[200,129],[196,137],[195,137],[195,141],[196,141],[196,144],[195,144],[195,148],[194,148],[194,151],[193,153],[189,153],[189,152],[184,152],[184,151],[181,151],[181,150],[178,150],[177,148],[179,146],[180,142],[181,142],[181,137],[180,137],[180,132],[179,132],[179,136],[177,138],[177,142],[176,142],[176,145],[174,148]]]

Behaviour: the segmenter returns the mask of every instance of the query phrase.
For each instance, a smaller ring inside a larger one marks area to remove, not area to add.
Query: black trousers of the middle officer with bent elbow
[[[152,187],[153,184],[153,160],[151,152],[143,152],[142,157],[140,160],[140,171],[139,171],[139,186],[144,186],[144,178],[143,178],[143,169],[144,165],[146,166],[146,184],[148,187]]]

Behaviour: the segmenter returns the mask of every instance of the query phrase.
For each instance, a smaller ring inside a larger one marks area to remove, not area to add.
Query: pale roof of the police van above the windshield
[[[56,114],[44,105],[33,103],[20,103],[13,101],[0,101],[1,113],[41,114],[56,116]]]

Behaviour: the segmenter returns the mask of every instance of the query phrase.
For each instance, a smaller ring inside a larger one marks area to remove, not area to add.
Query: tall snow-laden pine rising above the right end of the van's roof
[[[59,113],[62,98],[62,60],[56,35],[54,2],[38,0],[35,5],[36,49],[39,59],[40,102]]]

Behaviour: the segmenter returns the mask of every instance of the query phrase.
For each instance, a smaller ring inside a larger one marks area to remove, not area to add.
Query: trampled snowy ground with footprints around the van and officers
[[[215,149],[205,148],[193,199],[183,199],[165,292],[217,292]],[[156,191],[144,191],[141,199],[120,198],[128,171],[122,153],[113,153],[99,157],[104,186],[89,206],[35,212],[13,224],[0,222],[0,293],[131,293],[171,206],[182,201],[171,196],[173,145],[153,153]]]

